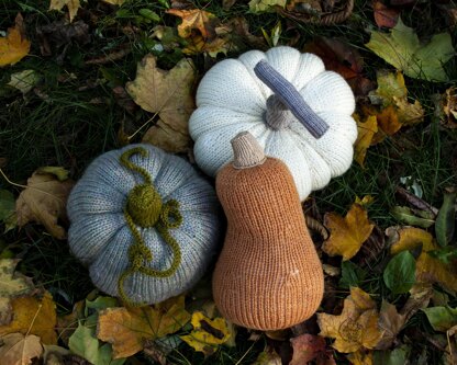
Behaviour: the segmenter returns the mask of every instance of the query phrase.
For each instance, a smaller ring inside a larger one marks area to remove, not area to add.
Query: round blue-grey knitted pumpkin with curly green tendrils
[[[213,187],[183,159],[138,144],[101,155],[73,189],[71,252],[129,305],[189,289],[218,249]]]

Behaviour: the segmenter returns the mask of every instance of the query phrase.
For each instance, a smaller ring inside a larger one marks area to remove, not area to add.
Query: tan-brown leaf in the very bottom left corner
[[[32,360],[43,354],[40,338],[33,334],[11,333],[0,337],[0,358],[2,365],[30,365]]]

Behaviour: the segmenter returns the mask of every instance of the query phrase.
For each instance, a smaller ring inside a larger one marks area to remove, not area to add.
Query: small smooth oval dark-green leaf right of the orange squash
[[[383,278],[393,294],[404,294],[415,283],[415,260],[410,251],[395,254],[387,264]]]

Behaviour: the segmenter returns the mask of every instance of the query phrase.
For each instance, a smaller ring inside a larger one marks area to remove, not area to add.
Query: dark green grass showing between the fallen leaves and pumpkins
[[[261,28],[268,33],[280,21],[282,33],[279,44],[294,41],[293,46],[298,49],[303,49],[315,36],[344,38],[360,52],[365,59],[366,77],[371,80],[376,80],[377,69],[392,69],[364,46],[369,41],[368,30],[376,27],[369,5],[371,1],[356,1],[354,14],[346,23],[325,27],[286,21],[275,13],[260,16],[252,14],[247,12],[245,1],[237,1],[228,11],[219,1],[201,0],[193,3],[197,8],[214,13],[223,22],[234,16],[245,16],[249,31],[257,36],[261,36]],[[25,57],[0,72],[0,158],[8,160],[2,170],[10,180],[21,184],[25,184],[33,171],[42,166],[62,166],[70,171],[73,179],[79,179],[93,158],[122,145],[118,137],[120,130],[132,135],[149,119],[151,115],[140,109],[133,113],[122,109],[116,103],[112,89],[124,85],[135,77],[137,61],[154,46],[149,36],[156,24],[142,18],[141,9],[149,9],[159,14],[160,25],[176,26],[179,23],[176,16],[165,14],[166,7],[156,1],[127,2],[122,8],[123,13],[107,4],[89,1],[83,4],[86,10],[80,16],[90,25],[90,39],[87,44],[73,42],[59,62],[57,57],[64,52],[64,46],[54,49],[54,54],[48,57],[41,56],[40,53],[35,27],[62,19],[62,13],[48,12],[47,7],[48,1],[44,0],[0,1],[0,30],[11,26],[16,13],[21,12],[26,20],[27,36],[32,41],[33,56]],[[403,21],[416,28],[422,36],[430,36],[431,30],[432,33],[445,31],[442,16],[437,14],[432,1],[402,12]],[[126,31],[129,26],[136,27],[134,35]],[[454,34],[454,43],[455,41]],[[110,54],[121,45],[126,45],[131,50],[122,59],[102,66],[85,65],[85,60]],[[237,56],[242,50],[230,56]],[[165,69],[171,68],[183,57],[180,49],[157,55],[159,66]],[[224,56],[220,55],[219,59],[221,58]],[[204,55],[192,56],[192,59],[200,76],[215,62]],[[448,83],[406,78],[409,96],[411,100],[419,100],[424,106],[425,121],[370,147],[365,168],[354,162],[346,174],[332,180],[322,191],[313,193],[322,215],[326,212],[344,215],[356,196],[372,195],[375,201],[368,206],[369,218],[381,230],[399,225],[390,210],[400,205],[394,193],[402,176],[412,176],[412,180],[417,181],[423,189],[423,199],[439,207],[443,190],[457,184],[457,129],[444,129],[439,125],[434,116],[432,95],[443,93],[446,88],[455,84],[455,59],[447,65],[450,77]],[[40,72],[42,81],[36,92],[22,96],[7,88],[5,83],[13,72],[24,69]],[[141,136],[142,132],[132,141],[138,141]],[[15,195],[21,191],[2,179],[0,189],[9,190]],[[87,269],[73,258],[67,242],[52,238],[41,226],[27,225],[21,230],[3,235],[0,238],[0,248],[3,250],[0,253],[5,255],[8,251],[9,255],[22,259],[19,270],[53,294],[62,313],[69,312],[76,301],[86,298],[93,289]],[[336,266],[341,265],[339,259],[328,260]],[[384,250],[375,262],[370,262],[365,267],[367,276],[360,286],[372,294],[378,303],[388,298],[401,306],[405,296],[391,296],[382,281],[382,269],[388,260],[389,255]],[[334,284],[338,299],[348,295],[347,287],[339,287],[337,281]],[[455,306],[457,299],[450,298],[450,304]],[[421,312],[409,322],[405,333],[411,328],[420,328],[427,335],[433,334]],[[223,346],[208,358],[182,344],[169,354],[169,361],[172,364],[252,364],[267,343],[275,344],[265,334],[256,342],[248,341],[248,338],[249,333],[239,329],[235,347]],[[439,363],[441,353],[430,342],[417,343],[410,340],[409,334],[401,339],[405,343],[412,343],[413,351],[422,352],[425,346],[430,364]],[[140,363],[152,363],[145,355],[137,355],[136,358]],[[338,358],[343,363],[341,355]],[[131,364],[138,363],[131,361]]]

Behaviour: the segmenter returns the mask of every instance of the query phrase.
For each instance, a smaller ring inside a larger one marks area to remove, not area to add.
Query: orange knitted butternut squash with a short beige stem
[[[265,157],[248,133],[238,134],[232,147],[234,161],[216,176],[228,226],[213,276],[214,300],[236,324],[288,328],[317,309],[322,265],[287,166]]]

